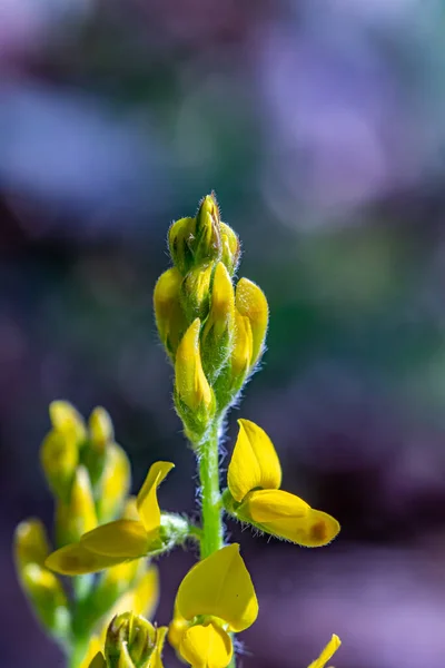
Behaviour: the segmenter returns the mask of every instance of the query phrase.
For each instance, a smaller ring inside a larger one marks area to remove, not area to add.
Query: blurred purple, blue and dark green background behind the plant
[[[271,314],[227,450],[258,422],[343,524],[323,550],[230,524],[260,601],[239,665],[305,668],[332,632],[337,667],[443,664],[444,31],[443,0],[1,0],[2,666],[62,666],[10,554],[51,521],[50,401],[105,405],[135,490],[171,459],[162,505],[195,508],[151,293],[211,188]],[[161,561],[159,622],[192,560]]]

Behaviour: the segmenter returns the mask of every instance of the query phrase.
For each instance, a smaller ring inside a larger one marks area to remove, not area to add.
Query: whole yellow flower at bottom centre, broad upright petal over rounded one
[[[233,655],[230,631],[254,623],[258,601],[237,543],[199,561],[176,597],[170,640],[194,668],[225,668]],[[188,622],[188,623],[184,623]]]

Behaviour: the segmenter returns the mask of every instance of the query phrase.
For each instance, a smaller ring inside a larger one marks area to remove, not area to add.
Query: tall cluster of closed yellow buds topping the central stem
[[[154,294],[156,323],[175,364],[175,403],[190,440],[202,439],[227,410],[263,352],[268,305],[261,289],[241,278],[234,285],[240,245],[207,195],[195,218],[168,234],[174,267]]]

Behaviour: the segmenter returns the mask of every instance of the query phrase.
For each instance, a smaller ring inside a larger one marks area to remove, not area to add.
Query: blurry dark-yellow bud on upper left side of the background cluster
[[[79,450],[72,432],[52,430],[40,449],[40,462],[52,492],[67,499],[79,460]]]

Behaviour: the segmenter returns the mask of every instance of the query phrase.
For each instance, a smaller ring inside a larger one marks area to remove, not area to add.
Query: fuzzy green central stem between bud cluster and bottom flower
[[[199,479],[202,500],[201,559],[222,547],[222,509],[219,490],[219,422],[209,429],[199,448]]]

